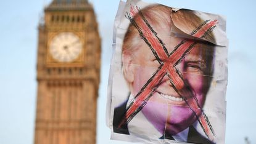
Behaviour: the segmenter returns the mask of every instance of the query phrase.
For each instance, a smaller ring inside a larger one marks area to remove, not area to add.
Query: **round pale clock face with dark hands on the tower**
[[[83,44],[73,33],[59,33],[50,42],[50,54],[59,62],[72,62],[81,53]]]

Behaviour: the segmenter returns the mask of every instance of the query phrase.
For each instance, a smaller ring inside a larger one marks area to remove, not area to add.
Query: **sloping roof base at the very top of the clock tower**
[[[86,10],[90,8],[88,0],[53,0],[45,10]]]

